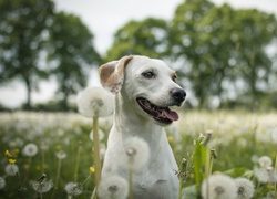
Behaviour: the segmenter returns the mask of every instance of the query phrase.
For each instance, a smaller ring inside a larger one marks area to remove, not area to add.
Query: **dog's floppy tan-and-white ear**
[[[133,56],[124,56],[119,61],[112,61],[100,66],[99,75],[103,87],[112,93],[119,93],[124,82],[124,70]]]

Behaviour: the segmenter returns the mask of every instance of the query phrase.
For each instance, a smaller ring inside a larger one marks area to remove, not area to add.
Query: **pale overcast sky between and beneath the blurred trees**
[[[54,0],[58,10],[79,15],[94,34],[95,49],[104,54],[113,40],[113,33],[130,20],[147,17],[172,19],[175,8],[183,0]],[[229,3],[234,8],[256,8],[276,13],[277,0],[212,0],[216,4]],[[89,85],[95,85],[91,80]],[[53,81],[42,82],[40,92],[32,94],[34,102],[44,102],[53,97]],[[16,107],[25,101],[25,87],[13,82],[0,87],[0,104]]]

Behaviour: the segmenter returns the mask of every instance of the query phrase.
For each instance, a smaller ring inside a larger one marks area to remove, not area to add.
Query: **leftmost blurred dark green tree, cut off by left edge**
[[[0,83],[14,78],[27,87],[27,108],[39,78],[47,77],[39,60],[53,14],[51,0],[0,1]]]

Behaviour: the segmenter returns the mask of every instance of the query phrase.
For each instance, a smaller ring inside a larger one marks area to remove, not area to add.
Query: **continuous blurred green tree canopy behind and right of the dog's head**
[[[274,14],[186,0],[176,8],[173,20],[160,21],[132,21],[121,28],[106,60],[126,54],[165,59],[202,107],[242,95],[257,104],[270,86],[273,60],[266,48],[277,36]],[[151,34],[157,24],[162,24],[157,34]]]

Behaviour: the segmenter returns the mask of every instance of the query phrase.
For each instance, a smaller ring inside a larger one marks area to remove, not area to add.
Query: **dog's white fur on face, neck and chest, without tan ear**
[[[147,70],[156,74],[154,80],[142,76]],[[178,168],[164,127],[142,111],[136,102],[136,97],[142,96],[157,106],[173,105],[170,92],[174,87],[179,88],[179,85],[172,80],[172,74],[174,71],[163,61],[135,55],[124,70],[121,90],[115,92],[114,123],[109,136],[102,178],[120,175],[127,180],[127,170],[117,161],[125,153],[124,140],[133,136],[144,139],[150,146],[150,161],[134,174],[135,199],[175,199],[178,196],[178,178],[174,172]]]

